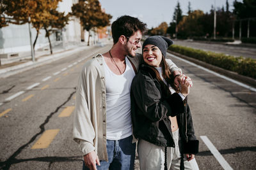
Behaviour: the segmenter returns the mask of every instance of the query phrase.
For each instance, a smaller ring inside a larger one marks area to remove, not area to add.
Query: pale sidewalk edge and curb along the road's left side
[[[90,46],[92,47],[92,46]],[[76,48],[70,49],[70,50],[65,50],[65,51],[60,51],[58,53],[54,53],[52,55],[49,55],[47,57],[42,57],[38,58],[35,62],[29,61],[25,62],[23,64],[19,64],[17,66],[12,66],[12,67],[7,67],[4,69],[0,69],[0,78],[6,78],[8,76],[12,76],[13,74],[21,73],[23,71],[26,71],[28,69],[32,69],[38,66],[42,66],[44,64],[48,64],[50,62],[53,62],[55,60],[62,59],[64,57],[67,57],[69,55],[72,55],[77,52],[81,52],[83,50],[86,50],[88,46],[77,46]]]

